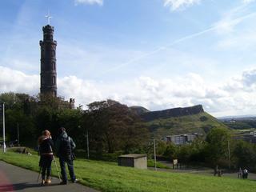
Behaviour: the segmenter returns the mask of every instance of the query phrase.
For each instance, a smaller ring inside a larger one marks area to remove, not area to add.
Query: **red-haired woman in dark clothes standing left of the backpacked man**
[[[40,162],[39,166],[42,167],[42,185],[50,184],[51,162],[54,157],[53,147],[54,142],[51,139],[50,131],[42,131],[42,136],[38,138]]]

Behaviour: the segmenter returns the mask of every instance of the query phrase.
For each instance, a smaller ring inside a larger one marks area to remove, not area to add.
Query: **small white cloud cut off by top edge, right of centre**
[[[201,0],[163,0],[164,6],[170,6],[171,10],[184,9],[186,6],[198,4]]]

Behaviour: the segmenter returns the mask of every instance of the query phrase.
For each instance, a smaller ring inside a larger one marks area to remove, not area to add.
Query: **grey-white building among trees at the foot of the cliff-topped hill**
[[[186,143],[193,142],[195,138],[198,138],[199,134],[178,134],[166,136],[167,142],[172,142],[174,145],[182,146]]]

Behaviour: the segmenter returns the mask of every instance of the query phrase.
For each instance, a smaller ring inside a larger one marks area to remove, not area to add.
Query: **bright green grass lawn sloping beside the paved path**
[[[38,156],[17,154],[8,151],[0,153],[0,160],[29,170],[38,171]],[[58,161],[58,159],[57,159]],[[58,163],[58,162],[57,162]],[[54,163],[53,174],[57,175]],[[254,191],[256,182],[236,178],[217,178],[197,174],[178,174],[138,170],[117,166],[114,162],[76,160],[74,170],[81,183],[101,191]]]

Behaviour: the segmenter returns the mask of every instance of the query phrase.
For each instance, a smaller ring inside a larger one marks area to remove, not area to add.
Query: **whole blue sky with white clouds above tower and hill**
[[[254,0],[2,0],[0,93],[39,92],[42,26],[57,40],[58,94],[163,110],[256,114]]]

